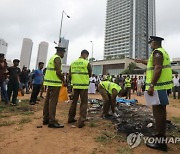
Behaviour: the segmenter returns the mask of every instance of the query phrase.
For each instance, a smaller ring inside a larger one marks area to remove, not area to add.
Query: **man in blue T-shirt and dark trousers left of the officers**
[[[31,99],[29,101],[30,105],[35,105],[37,101],[37,96],[40,92],[42,83],[43,83],[43,69],[44,63],[39,62],[38,69],[34,70],[33,72],[33,89],[31,94]]]

